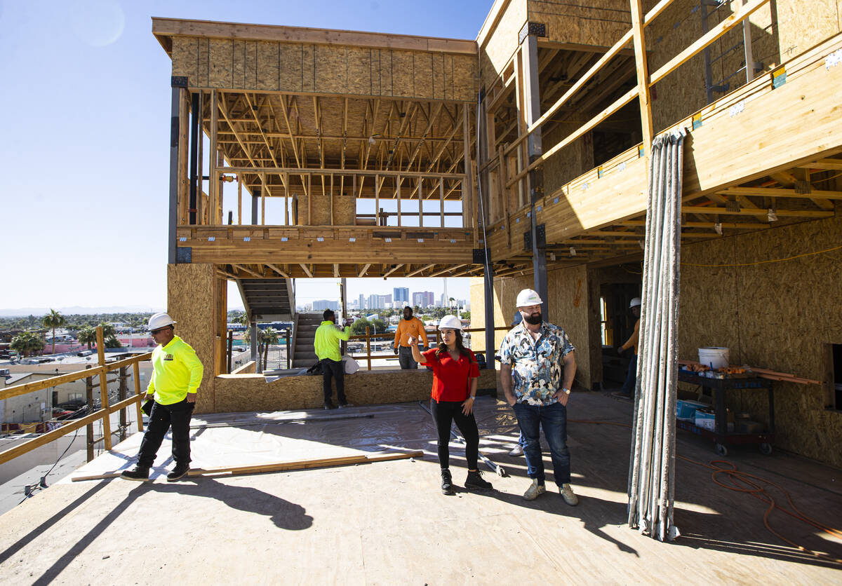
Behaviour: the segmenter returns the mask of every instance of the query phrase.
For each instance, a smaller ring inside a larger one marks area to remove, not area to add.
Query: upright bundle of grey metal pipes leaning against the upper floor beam
[[[681,129],[659,135],[652,143],[629,463],[628,523],[660,541],[679,535],[673,503],[685,134]]]

